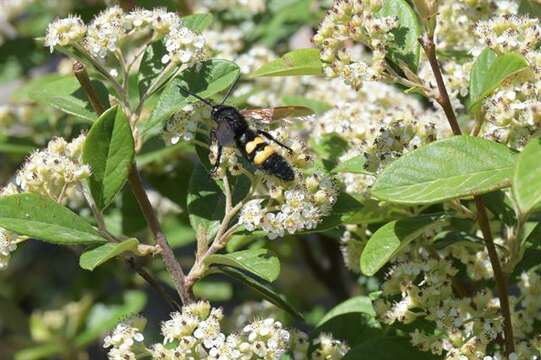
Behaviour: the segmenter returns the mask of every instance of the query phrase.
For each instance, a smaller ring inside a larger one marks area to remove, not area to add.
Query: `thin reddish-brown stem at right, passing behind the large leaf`
[[[447,93],[447,88],[441,74],[440,65],[436,56],[436,45],[434,43],[434,38],[428,36],[428,34],[425,34],[419,39],[419,42],[421,43],[428,61],[430,62],[430,67],[432,68],[434,78],[436,79],[439,92],[438,96],[436,97],[436,101],[443,108],[449,125],[453,130],[453,134],[461,135],[462,131],[460,130],[460,126],[456,119],[456,115],[453,110],[453,106],[451,105],[451,100],[449,98],[449,94]],[[483,233],[483,239],[488,251],[492,270],[494,272],[494,280],[496,282],[496,289],[498,290],[498,298],[500,299],[500,308],[503,316],[505,354],[506,356],[509,356],[509,354],[515,351],[515,342],[513,336],[513,324],[511,322],[511,307],[509,305],[507,293],[507,276],[502,271],[502,266],[500,264],[500,259],[498,258],[498,253],[496,252],[496,246],[494,245],[494,239],[492,237],[492,232],[490,231],[490,224],[488,222],[483,200],[479,196],[475,196],[474,200],[477,208],[477,222],[479,223],[479,227]]]

